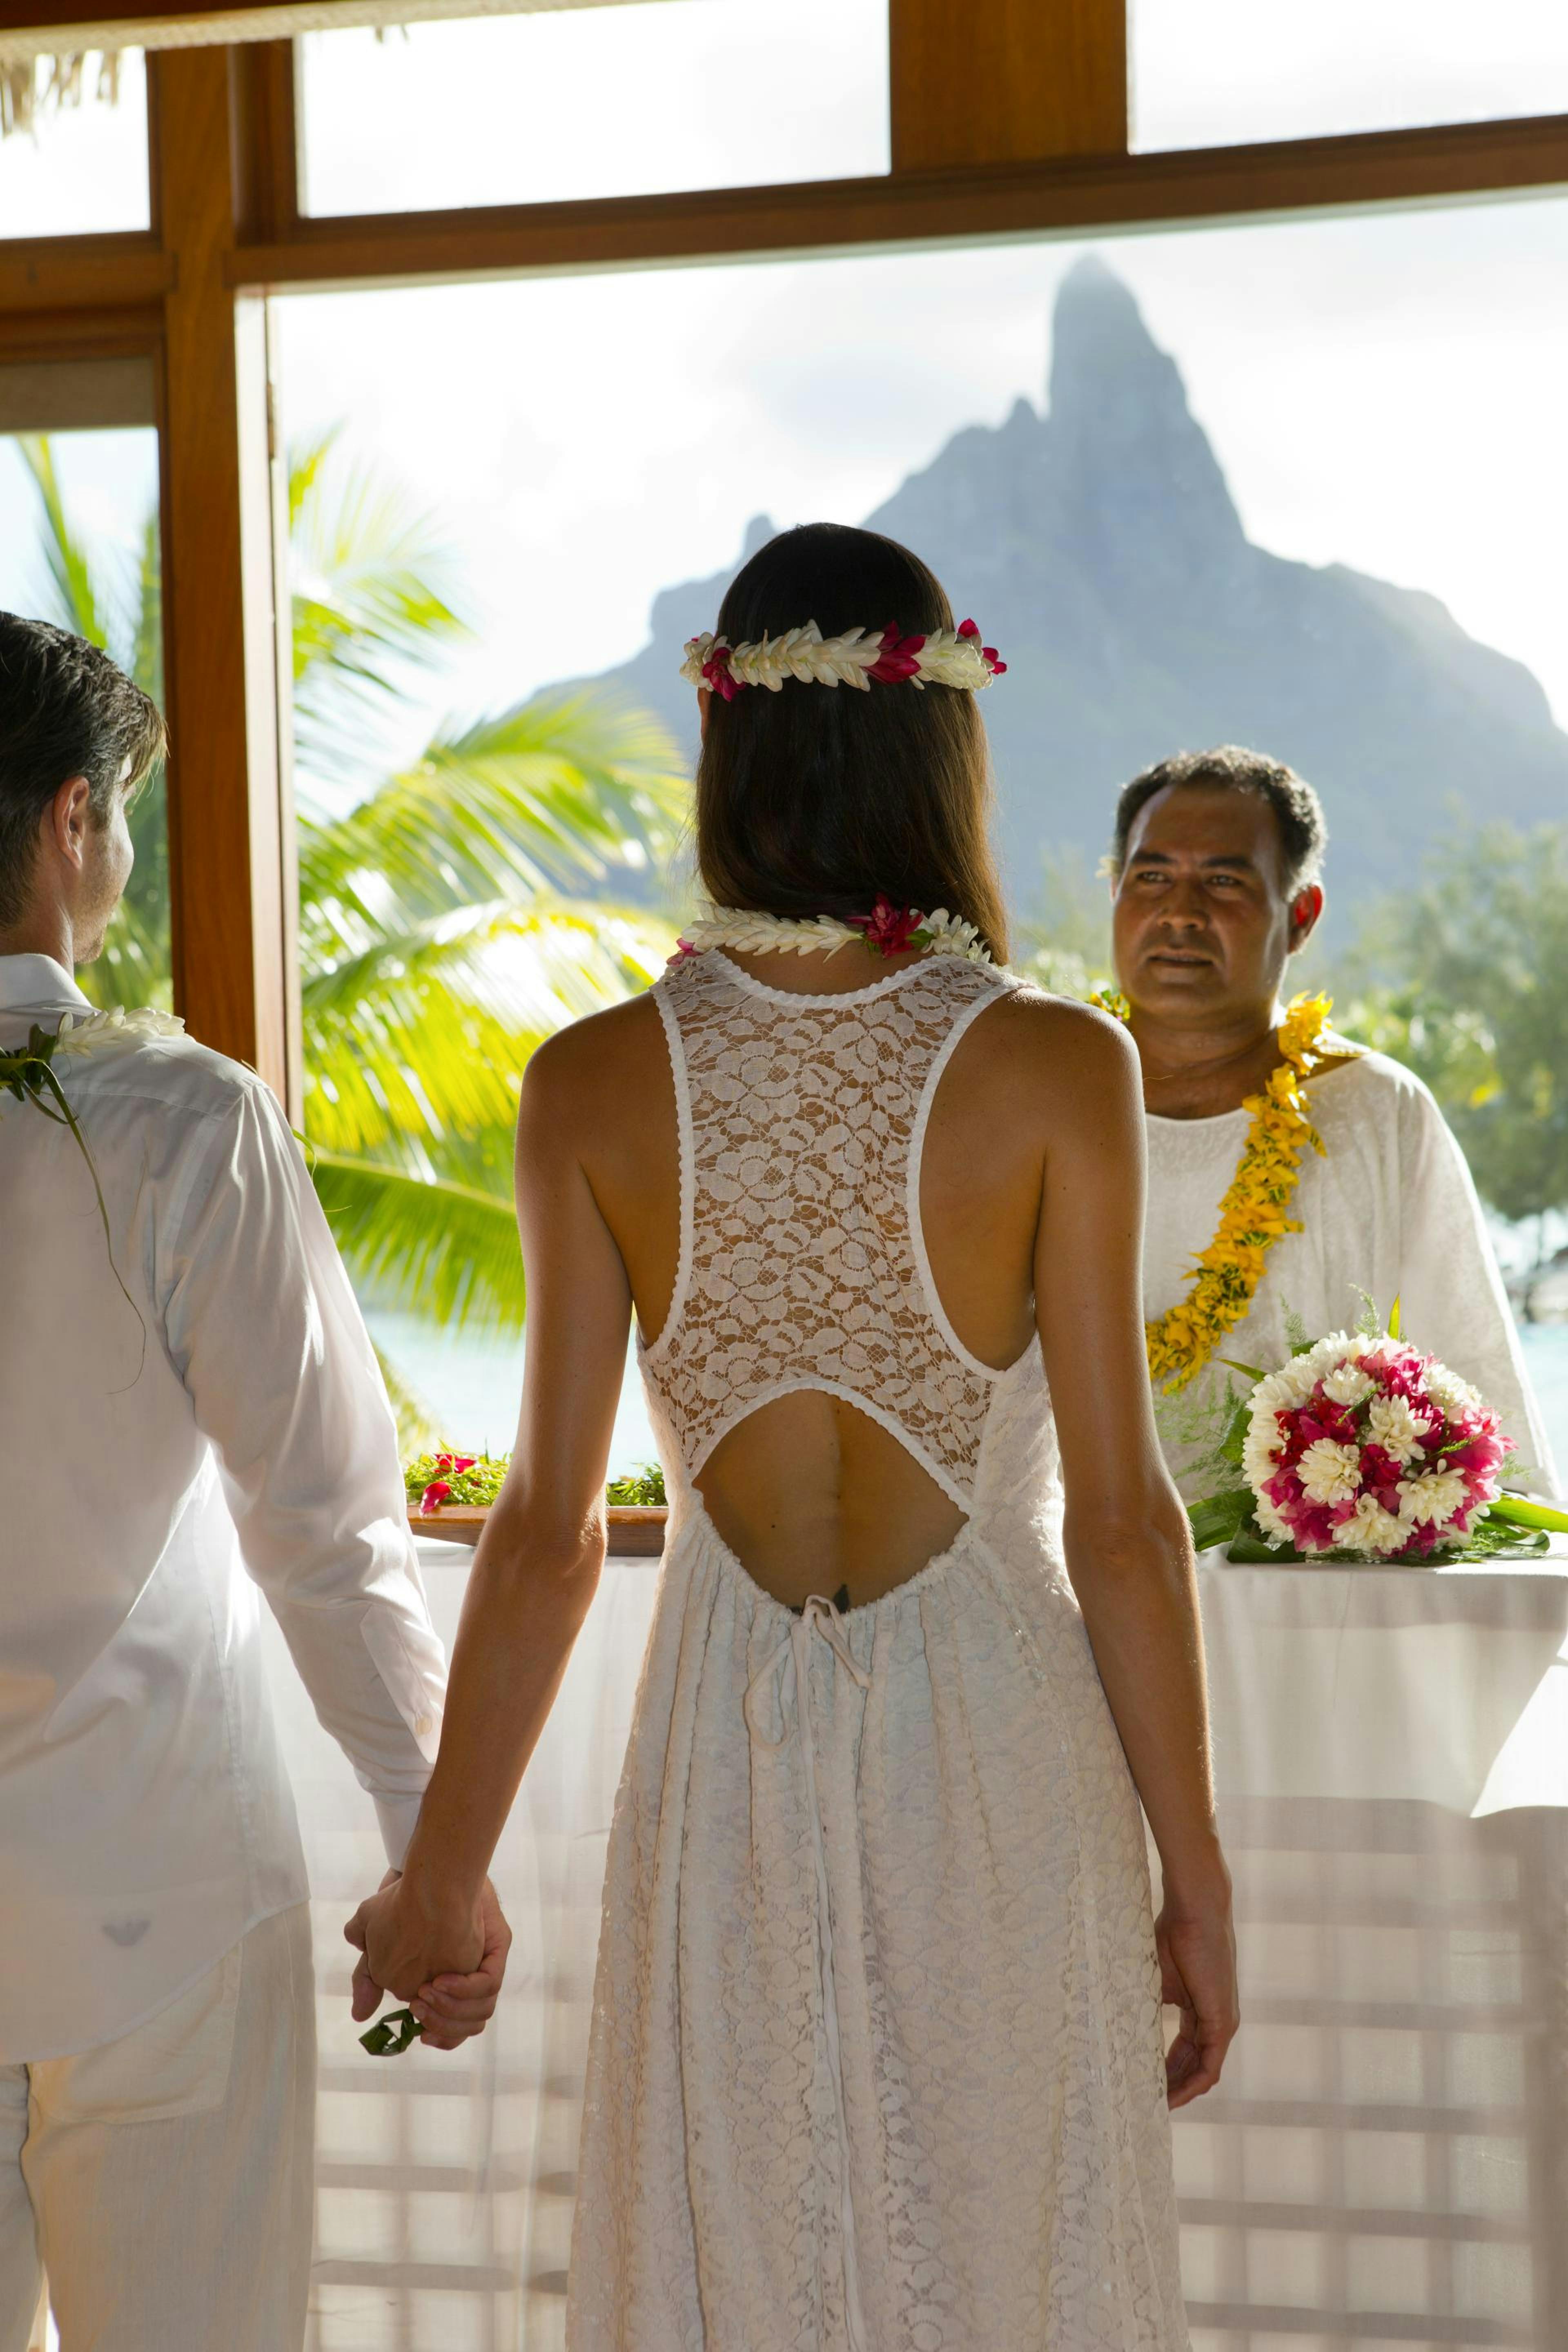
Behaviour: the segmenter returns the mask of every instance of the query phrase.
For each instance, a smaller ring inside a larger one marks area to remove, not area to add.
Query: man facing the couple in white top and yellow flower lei
[[[1540,1494],[1556,1491],[1481,1202],[1427,1087],[1291,1000],[1324,913],[1326,823],[1262,753],[1180,753],[1117,802],[1112,943],[1143,1061],[1150,1369],[1171,1468],[1213,1439],[1225,1357],[1272,1371],[1291,1334],[1354,1329],[1371,1296],[1472,1381]]]

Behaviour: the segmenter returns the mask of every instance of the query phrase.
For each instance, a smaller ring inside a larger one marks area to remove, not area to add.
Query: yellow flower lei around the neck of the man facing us
[[[1095,997],[1107,1014],[1128,1018],[1126,997]],[[1204,1369],[1227,1331],[1248,1312],[1265,1275],[1274,1242],[1300,1232],[1300,1218],[1286,1216],[1295,1192],[1300,1157],[1312,1145],[1324,1152],[1324,1138],[1307,1117],[1305,1080],[1324,1056],[1324,1033],[1333,997],[1293,997],[1279,1023],[1279,1068],[1269,1073],[1262,1094],[1241,1103],[1253,1124],[1246,1131],[1237,1174],[1220,1202],[1213,1242],[1194,1256],[1187,1296],[1145,1324],[1150,1376],[1159,1388],[1178,1390]],[[1335,1054],[1354,1051],[1335,1044]]]

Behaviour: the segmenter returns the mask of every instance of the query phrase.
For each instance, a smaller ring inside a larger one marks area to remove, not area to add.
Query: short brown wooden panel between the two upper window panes
[[[889,0],[893,172],[1126,153],[1126,0]]]

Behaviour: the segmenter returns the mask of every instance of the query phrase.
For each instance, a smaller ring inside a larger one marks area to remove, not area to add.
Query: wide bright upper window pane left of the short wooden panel
[[[315,214],[851,179],[889,169],[886,0],[308,33],[303,115]]]

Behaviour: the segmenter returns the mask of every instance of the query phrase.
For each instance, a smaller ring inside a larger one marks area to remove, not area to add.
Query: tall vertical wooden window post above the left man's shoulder
[[[287,1103],[289,962],[266,322],[235,296],[226,49],[148,59],[174,285],[162,343],[165,696],[174,997]]]

